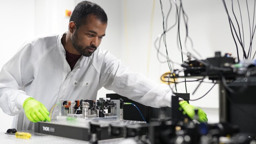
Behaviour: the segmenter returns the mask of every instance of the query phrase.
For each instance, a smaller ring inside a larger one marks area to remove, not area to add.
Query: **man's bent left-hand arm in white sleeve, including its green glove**
[[[30,44],[25,44],[14,57],[8,61],[0,72],[0,107],[8,115],[16,115],[24,109],[32,122],[51,121],[49,112],[39,101],[27,96],[25,85],[34,80],[33,55]]]

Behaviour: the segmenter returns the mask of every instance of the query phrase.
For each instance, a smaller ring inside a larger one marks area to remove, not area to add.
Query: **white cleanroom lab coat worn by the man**
[[[147,106],[170,107],[171,91],[166,84],[159,85],[129,71],[106,50],[97,48],[92,56],[82,56],[71,71],[62,36],[47,35],[27,41],[3,66],[0,107],[6,114],[15,115],[12,128],[34,129],[22,107],[28,97],[40,101],[50,112],[59,100],[96,100],[102,86]],[[55,108],[52,118],[58,113],[59,108]]]

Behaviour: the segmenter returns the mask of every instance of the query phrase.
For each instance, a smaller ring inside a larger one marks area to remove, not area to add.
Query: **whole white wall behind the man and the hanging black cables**
[[[0,26],[2,28],[0,68],[14,55],[15,51],[28,39],[43,33],[61,33],[67,31],[69,18],[65,17],[65,10],[73,10],[81,0],[0,0]],[[106,36],[101,43],[102,49],[107,49],[124,65],[128,65],[132,71],[140,72],[160,83],[160,76],[169,71],[167,63],[160,64],[156,57],[154,41],[163,32],[160,3],[155,1],[153,13],[153,27],[150,27],[153,0],[93,0],[106,11],[108,15],[108,28]],[[169,9],[169,1],[162,0],[165,16]],[[230,2],[226,1],[230,8]],[[252,1],[249,2],[252,13]],[[193,39],[194,47],[203,58],[213,57],[214,51],[222,53],[231,52],[236,57],[235,45],[230,33],[227,15],[222,2],[215,0],[183,0],[184,10],[189,17],[189,35]],[[237,4],[235,11],[238,15]],[[248,35],[248,15],[245,3],[241,1],[243,23],[245,33]],[[252,14],[250,15],[253,16]],[[172,3],[172,11],[168,19],[168,26],[175,21],[175,6]],[[251,18],[252,21],[252,18]],[[152,39],[151,38],[152,32]],[[177,47],[177,27],[168,32],[166,37],[170,59],[181,62],[181,53]],[[184,41],[185,29],[181,24],[181,37]],[[248,40],[248,36],[245,37]],[[248,42],[246,47],[248,47]],[[184,43],[183,43],[184,48]],[[150,55],[149,55],[150,49]],[[247,48],[248,49],[248,48]],[[161,52],[165,53],[163,43]],[[239,49],[241,53],[241,50]],[[148,63],[148,56],[149,63]],[[240,55],[242,57],[242,55]],[[160,57],[162,61],[165,58]],[[186,56],[184,55],[184,60]],[[149,69],[148,69],[149,66]],[[174,69],[181,68],[174,65]],[[179,79],[179,81],[183,81]],[[198,83],[187,83],[189,93],[192,93]],[[195,99],[208,91],[212,84],[202,84]],[[178,84],[179,93],[185,92],[184,84]],[[106,91],[100,89],[98,97],[104,97]],[[218,122],[218,85],[199,101],[191,102],[209,112],[209,121]],[[0,111],[0,132],[10,128],[11,116]],[[2,124],[4,123],[4,124]]]

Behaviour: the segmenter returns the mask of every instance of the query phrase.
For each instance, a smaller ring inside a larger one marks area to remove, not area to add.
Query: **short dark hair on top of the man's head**
[[[77,28],[79,28],[80,26],[86,24],[87,16],[90,14],[94,15],[101,23],[107,23],[107,14],[105,11],[96,3],[89,1],[79,2],[75,6],[69,22],[75,22]]]

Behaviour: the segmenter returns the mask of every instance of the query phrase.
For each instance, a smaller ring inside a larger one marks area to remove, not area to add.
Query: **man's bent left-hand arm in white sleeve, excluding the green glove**
[[[23,102],[29,98],[22,89],[31,82],[33,65],[26,53],[29,44],[22,46],[0,72],[0,107],[8,115],[16,115],[23,110]]]

